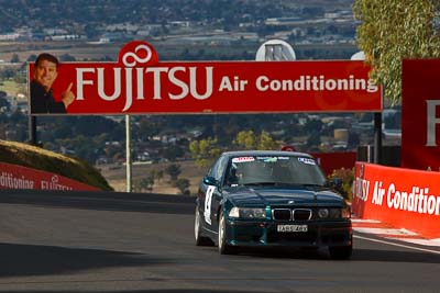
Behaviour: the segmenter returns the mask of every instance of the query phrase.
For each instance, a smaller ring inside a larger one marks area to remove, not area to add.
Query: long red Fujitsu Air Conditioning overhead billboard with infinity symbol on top
[[[29,65],[30,80],[38,68]],[[51,94],[55,103],[74,97],[67,114],[380,112],[382,90],[369,71],[351,60],[160,63],[151,44],[135,41],[117,63],[61,64]],[[30,83],[31,114],[56,114],[36,111]]]

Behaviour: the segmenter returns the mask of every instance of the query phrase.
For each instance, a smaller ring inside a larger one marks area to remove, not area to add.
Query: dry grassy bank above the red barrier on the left
[[[23,143],[0,140],[0,161],[57,173],[100,190],[112,190],[99,171],[87,162]]]

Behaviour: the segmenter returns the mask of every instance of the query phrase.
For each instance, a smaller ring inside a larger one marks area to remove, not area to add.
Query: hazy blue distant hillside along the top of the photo
[[[84,31],[94,35],[102,24],[162,24],[169,21],[223,23],[231,27],[239,22],[296,14],[322,14],[323,11],[351,9],[352,0],[77,0],[77,1],[1,1],[0,26],[4,31],[29,26]],[[62,13],[61,13],[62,12]],[[47,15],[51,15],[47,18]],[[81,24],[76,25],[74,24]]]

